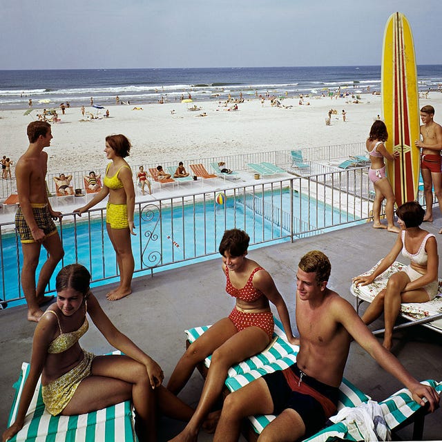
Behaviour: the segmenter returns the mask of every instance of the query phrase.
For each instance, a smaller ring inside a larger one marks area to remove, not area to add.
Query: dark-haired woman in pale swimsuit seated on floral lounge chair
[[[371,275],[353,279],[356,285],[372,284],[377,276],[393,264],[399,253],[402,252],[405,258],[410,259],[409,266],[390,276],[387,287],[378,293],[362,316],[362,320],[368,325],[384,314],[383,346],[389,350],[392,347],[393,327],[401,302],[427,302],[434,299],[438,290],[439,256],[436,237],[419,227],[425,211],[419,202],[411,201],[399,206],[396,215],[402,230],[393,248]]]

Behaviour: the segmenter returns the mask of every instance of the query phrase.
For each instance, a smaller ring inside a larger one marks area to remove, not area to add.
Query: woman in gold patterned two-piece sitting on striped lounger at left
[[[43,400],[52,415],[72,416],[132,401],[140,416],[139,440],[156,440],[155,410],[188,421],[193,409],[171,394],[162,381],[161,367],[111,323],[89,290],[90,273],[79,264],[59,271],[57,302],[35,329],[30,372],[23,387],[17,419],[3,434],[11,438],[21,427],[41,375]],[[126,356],[94,356],[81,349],[79,338],[90,319],[108,343]]]

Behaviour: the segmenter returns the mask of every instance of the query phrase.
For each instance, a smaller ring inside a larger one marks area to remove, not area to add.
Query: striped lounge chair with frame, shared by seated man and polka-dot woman
[[[187,335],[188,345],[197,339],[198,336],[201,336],[208,328],[208,326],[204,326],[186,330],[185,333]],[[230,367],[224,385],[223,397],[227,396],[230,392],[239,390],[240,387],[259,378],[263,374],[274,372],[278,369],[284,369],[295,363],[299,347],[292,346],[288,343],[282,325],[276,318],[272,343],[273,345],[267,347],[264,352],[252,356],[238,365]],[[204,363],[201,363],[198,366],[198,369],[203,376],[207,373],[210,360],[211,356],[208,356],[204,360]],[[436,388],[439,394],[441,394],[442,383],[436,383],[435,381],[425,381],[425,383],[432,385]],[[340,396],[338,410],[341,410],[343,407],[358,407],[370,400],[369,396],[365,395],[345,378],[343,379],[339,390]],[[385,399],[385,401],[381,401],[379,405],[381,405],[385,422],[390,430],[398,430],[399,427],[404,427],[414,422],[413,440],[422,439],[423,424],[427,411],[425,407],[421,407],[412,400],[409,390],[403,388],[399,392],[396,392],[389,398]],[[270,414],[265,416],[249,416],[244,420],[244,437],[248,441],[256,441],[260,432],[262,432],[264,427],[273,419],[275,419],[275,416]],[[359,439],[356,439],[356,434],[358,434],[357,427],[352,427],[351,425],[347,426],[343,422],[338,422],[320,430],[320,432],[311,436],[307,441],[324,442],[327,441],[327,437],[330,437],[330,440],[363,440],[361,434],[359,434]]]

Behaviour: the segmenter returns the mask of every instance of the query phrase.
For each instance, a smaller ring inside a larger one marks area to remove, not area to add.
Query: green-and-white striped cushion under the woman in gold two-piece
[[[119,354],[119,352],[115,352]],[[30,365],[21,365],[18,381],[14,384],[15,398],[12,403],[8,426],[15,421],[23,385],[28,377]],[[41,398],[41,380],[26,414],[23,428],[11,442],[120,442],[137,441],[133,427],[133,412],[130,401],[122,402],[104,410],[80,414],[79,416],[52,416],[45,410]]]

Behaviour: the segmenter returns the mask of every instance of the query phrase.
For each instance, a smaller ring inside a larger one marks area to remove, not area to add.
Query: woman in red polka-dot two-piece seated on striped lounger
[[[174,394],[182,390],[196,365],[212,355],[211,365],[195,414],[179,440],[196,440],[206,415],[222,392],[227,370],[269,345],[273,335],[273,314],[269,302],[276,305],[289,342],[299,340],[291,332],[289,312],[275,282],[257,262],[247,258],[249,236],[244,231],[224,232],[219,251],[227,278],[226,291],[236,298],[228,318],[222,318],[195,340],[178,362],[167,388]]]

